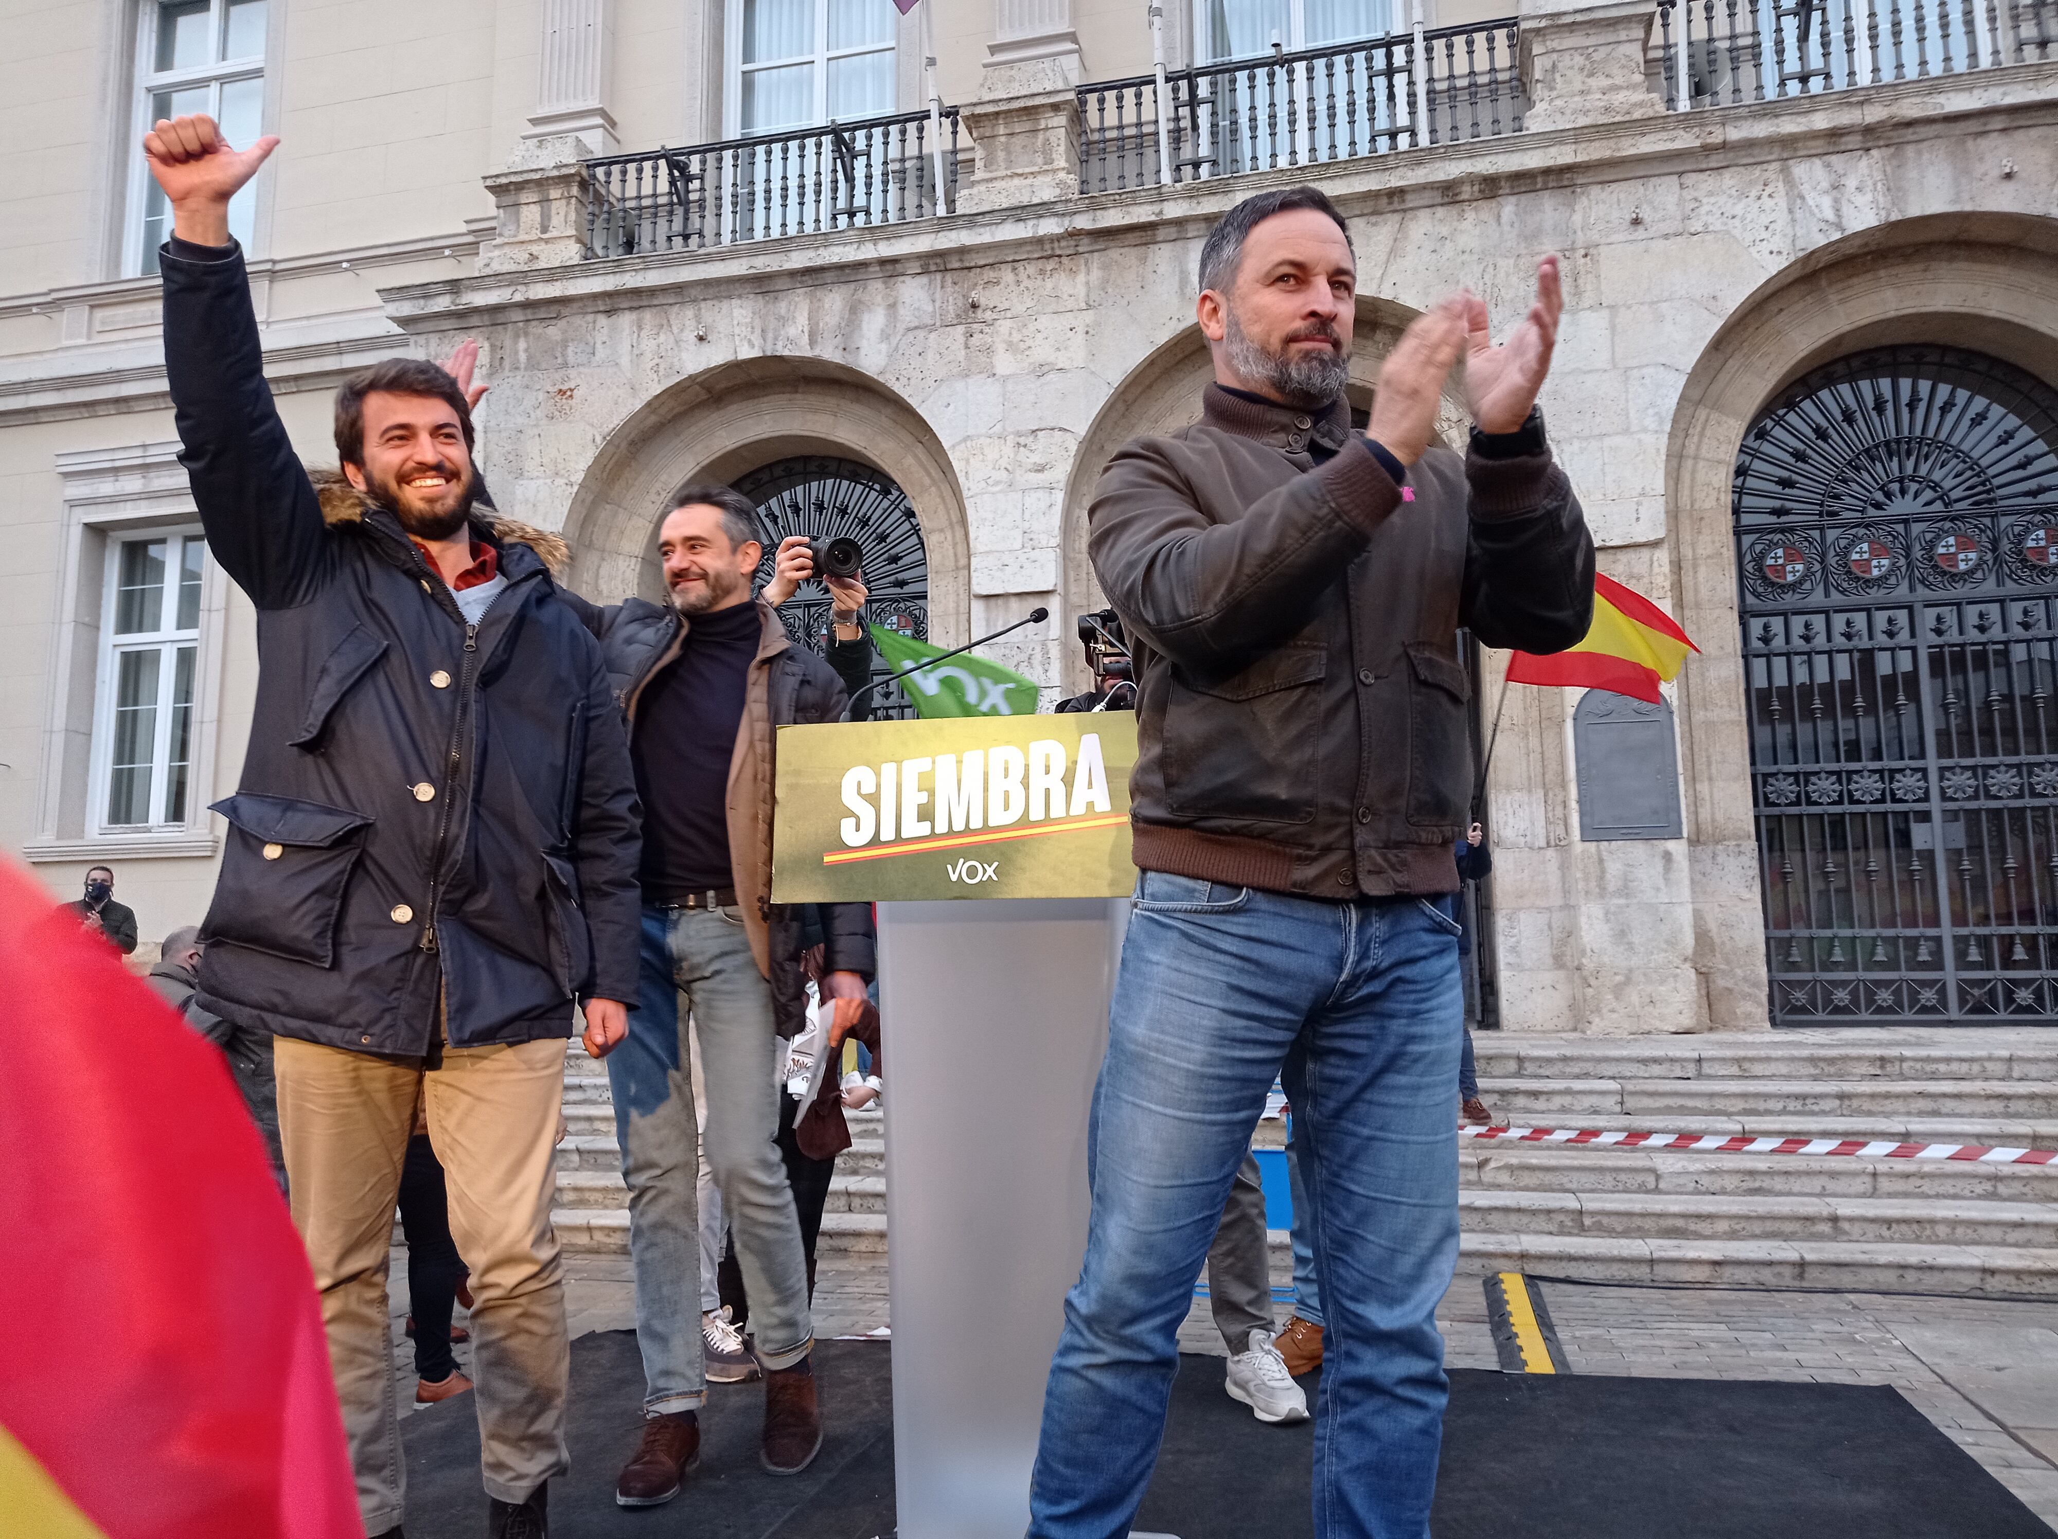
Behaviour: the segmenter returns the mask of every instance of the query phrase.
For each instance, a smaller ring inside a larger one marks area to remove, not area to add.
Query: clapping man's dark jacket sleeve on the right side
[[[1562,652],[1593,625],[1593,533],[1550,451],[1465,455],[1471,488],[1459,623],[1484,646]]]

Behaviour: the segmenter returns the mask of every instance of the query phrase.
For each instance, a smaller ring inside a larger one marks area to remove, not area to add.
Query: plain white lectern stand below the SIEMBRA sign
[[[1128,899],[881,903],[899,1539],[1021,1539]]]

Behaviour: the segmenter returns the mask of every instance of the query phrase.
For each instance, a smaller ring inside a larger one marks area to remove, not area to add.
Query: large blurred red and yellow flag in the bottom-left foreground
[[[0,1535],[362,1539],[321,1307],[228,1066],[0,864]]]

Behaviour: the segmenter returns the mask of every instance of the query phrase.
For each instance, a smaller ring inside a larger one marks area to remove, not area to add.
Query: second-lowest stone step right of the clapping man
[[[1463,1228],[1488,1234],[1976,1245],[2058,1253],[2058,1204],[2037,1202],[1465,1189],[1457,1206]],[[2058,1278],[2052,1282],[2058,1286]]]

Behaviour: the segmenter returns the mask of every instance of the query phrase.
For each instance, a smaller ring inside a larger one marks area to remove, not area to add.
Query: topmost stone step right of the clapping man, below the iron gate
[[[2058,1080],[2058,1031],[2035,1027],[1568,1037],[1482,1031],[1482,1074],[1550,1080]]]

